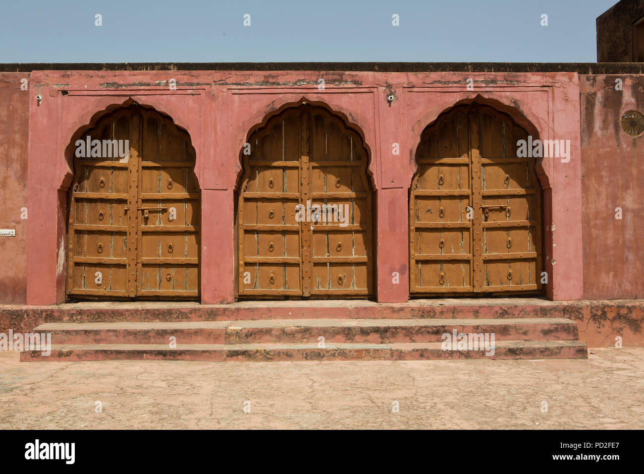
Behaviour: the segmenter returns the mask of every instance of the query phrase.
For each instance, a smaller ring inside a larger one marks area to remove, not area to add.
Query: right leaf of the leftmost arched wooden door
[[[146,110],[141,114],[137,293],[196,297],[200,206],[194,151],[187,134],[167,117]]]

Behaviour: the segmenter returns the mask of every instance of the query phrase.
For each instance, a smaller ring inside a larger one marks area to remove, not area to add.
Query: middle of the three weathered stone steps
[[[33,332],[53,344],[386,344],[440,342],[442,335],[488,333],[495,341],[571,341],[577,324],[565,318],[502,319],[279,319],[185,322],[50,322]]]

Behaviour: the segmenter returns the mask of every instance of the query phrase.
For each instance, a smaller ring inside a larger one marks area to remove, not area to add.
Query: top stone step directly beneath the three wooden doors
[[[574,302],[573,302],[574,303]],[[57,306],[0,307],[1,319],[37,322],[240,321],[256,319],[507,319],[569,317],[573,303],[538,298],[194,302],[79,302]]]

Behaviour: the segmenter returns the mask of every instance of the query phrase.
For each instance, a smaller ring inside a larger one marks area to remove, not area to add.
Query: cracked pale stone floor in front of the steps
[[[589,352],[588,360],[26,363],[5,351],[0,428],[643,429],[644,348]]]

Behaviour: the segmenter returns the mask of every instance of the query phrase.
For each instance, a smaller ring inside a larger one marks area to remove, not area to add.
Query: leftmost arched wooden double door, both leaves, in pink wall
[[[68,297],[198,299],[195,157],[187,132],[138,104],[82,133],[70,186]]]

